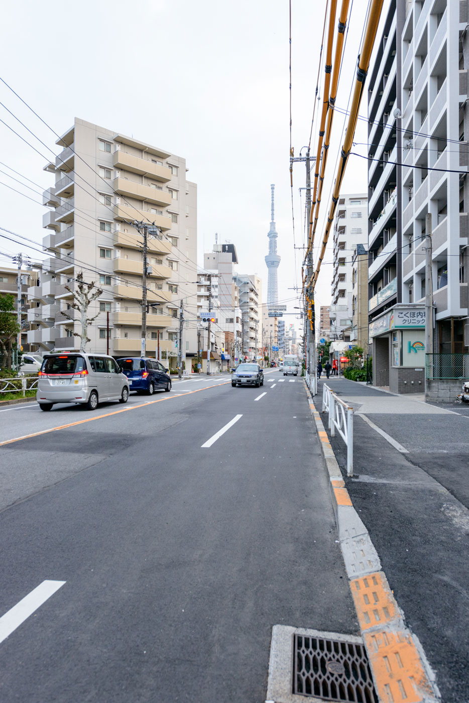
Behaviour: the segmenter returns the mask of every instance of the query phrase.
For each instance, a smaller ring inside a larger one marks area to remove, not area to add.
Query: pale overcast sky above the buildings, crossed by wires
[[[292,0],[295,155],[309,142],[325,6],[326,0]],[[366,0],[352,3],[336,102],[340,109],[347,108],[349,101],[367,6]],[[2,13],[1,77],[58,134],[81,117],[185,157],[188,179],[198,184],[198,263],[203,263],[204,250],[212,250],[218,233],[219,242],[236,245],[239,273],[262,276],[264,300],[270,184],[275,183],[281,255],[278,297],[288,300],[292,310],[300,304],[293,301],[295,290],[290,290],[300,285],[303,252],[296,250],[295,264],[287,0],[82,0],[70,4],[26,0],[4,6]],[[321,85],[322,81],[321,68]],[[54,153],[60,151],[51,131],[4,84],[0,84],[0,101]],[[366,103],[361,113],[366,115]],[[51,152],[1,106],[0,119],[51,158]],[[336,113],[319,224],[329,205],[345,119]],[[317,131],[315,124],[311,150],[315,150]],[[39,184],[40,188],[23,181],[33,191],[52,185],[53,176],[42,171],[45,159],[1,123],[0,140],[1,162]],[[366,142],[365,121],[359,121],[355,141]],[[366,153],[365,146],[354,150]],[[23,180],[4,165],[0,169]],[[3,173],[0,181],[41,200]],[[295,164],[297,246],[304,238],[304,190],[300,191],[304,184],[304,165]],[[366,192],[366,161],[351,157],[342,194],[360,191]],[[42,206],[0,185],[1,227],[39,243],[45,233],[44,212]],[[322,234],[322,227],[318,233]],[[332,238],[316,287],[316,309],[330,302],[331,247]],[[20,250],[41,258],[39,252],[0,238],[2,263],[6,263],[3,254]],[[293,322],[294,318],[286,319]]]

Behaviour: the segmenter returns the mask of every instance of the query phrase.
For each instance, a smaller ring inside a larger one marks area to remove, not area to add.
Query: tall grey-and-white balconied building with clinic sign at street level
[[[423,389],[428,213],[434,349],[469,344],[467,28],[466,2],[392,0],[368,72],[370,336],[396,392]]]

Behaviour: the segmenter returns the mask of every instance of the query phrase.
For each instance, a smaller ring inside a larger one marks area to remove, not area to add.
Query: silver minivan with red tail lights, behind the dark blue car
[[[36,400],[41,410],[56,403],[79,403],[95,410],[98,403],[127,403],[129,381],[112,356],[62,352],[46,354],[39,371]]]

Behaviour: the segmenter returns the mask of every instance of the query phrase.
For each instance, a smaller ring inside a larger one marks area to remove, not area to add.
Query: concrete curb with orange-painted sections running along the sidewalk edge
[[[405,625],[378,553],[345,488],[321,413],[306,383],[304,388],[329,475],[340,548],[378,699],[380,703],[436,703],[440,695],[435,674],[418,638]]]

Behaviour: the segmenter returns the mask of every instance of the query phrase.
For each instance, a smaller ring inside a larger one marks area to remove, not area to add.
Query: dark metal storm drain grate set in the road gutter
[[[293,693],[325,701],[378,703],[364,645],[294,636]]]

